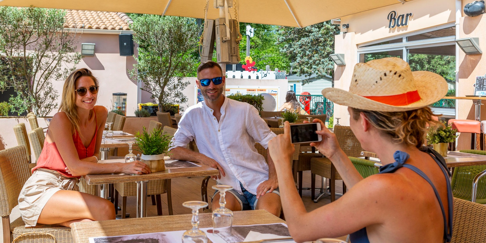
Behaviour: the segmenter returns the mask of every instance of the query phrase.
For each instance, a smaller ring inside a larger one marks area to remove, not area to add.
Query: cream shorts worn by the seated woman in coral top
[[[66,177],[57,171],[44,168],[35,170],[18,196],[18,208],[25,226],[37,225],[42,209],[57,191],[79,191],[77,183],[78,178]]]

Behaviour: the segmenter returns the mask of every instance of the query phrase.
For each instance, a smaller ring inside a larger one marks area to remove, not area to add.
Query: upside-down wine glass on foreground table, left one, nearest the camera
[[[192,209],[192,228],[182,234],[182,243],[208,243],[208,237],[198,228],[199,208],[208,207],[208,203],[203,201],[187,201],[182,206]]]

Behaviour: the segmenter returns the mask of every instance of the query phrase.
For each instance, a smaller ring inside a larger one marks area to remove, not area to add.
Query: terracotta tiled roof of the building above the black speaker
[[[64,28],[97,30],[130,30],[133,20],[125,13],[67,10]]]

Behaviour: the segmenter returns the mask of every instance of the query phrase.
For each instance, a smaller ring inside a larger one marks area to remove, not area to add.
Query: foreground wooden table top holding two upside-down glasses
[[[234,211],[233,214],[233,226],[285,223],[285,221],[265,210]],[[89,243],[89,237],[119,236],[190,229],[191,217],[191,214],[182,214],[137,219],[78,222],[71,225],[71,233],[74,243]],[[211,214],[199,214],[199,228],[211,226]]]

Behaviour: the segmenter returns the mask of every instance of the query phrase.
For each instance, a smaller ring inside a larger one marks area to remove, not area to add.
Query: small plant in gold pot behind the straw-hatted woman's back
[[[457,129],[452,129],[450,125],[444,122],[443,126],[438,128],[432,127],[427,133],[427,143],[432,144],[434,150],[441,156],[447,156],[448,143],[457,138]]]

